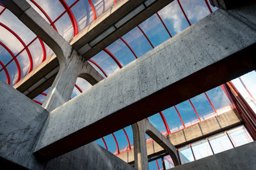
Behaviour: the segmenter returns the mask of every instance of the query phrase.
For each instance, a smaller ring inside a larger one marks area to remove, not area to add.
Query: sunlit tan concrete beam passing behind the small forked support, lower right
[[[210,118],[204,122],[200,122],[194,126],[183,129],[182,131],[175,132],[168,136],[168,139],[175,147],[186,145],[197,139],[205,138],[216,132],[225,131],[231,127],[242,124],[241,118],[236,115],[236,110],[228,111],[217,117]],[[195,134],[195,135],[193,135]],[[148,159],[166,153],[164,149],[152,141],[147,143]],[[134,164],[134,150],[117,155],[120,159],[124,160],[128,164]]]

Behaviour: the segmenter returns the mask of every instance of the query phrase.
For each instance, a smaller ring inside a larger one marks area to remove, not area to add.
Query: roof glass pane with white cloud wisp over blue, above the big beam
[[[158,13],[172,36],[189,27],[177,1],[168,4],[168,6],[164,7]]]

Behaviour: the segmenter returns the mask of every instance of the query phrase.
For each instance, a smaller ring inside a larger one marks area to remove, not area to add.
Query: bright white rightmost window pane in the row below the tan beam
[[[250,136],[250,134],[248,133],[244,126],[239,126],[234,129],[231,129],[227,131],[227,133],[232,143],[236,147],[253,141],[252,137]]]

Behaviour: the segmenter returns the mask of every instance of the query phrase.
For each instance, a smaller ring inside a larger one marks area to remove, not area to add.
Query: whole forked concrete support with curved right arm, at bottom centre
[[[134,166],[138,170],[148,169],[148,154],[145,133],[158,143],[173,160],[175,166],[179,166],[179,158],[175,146],[159,132],[148,120],[132,124],[134,143]]]

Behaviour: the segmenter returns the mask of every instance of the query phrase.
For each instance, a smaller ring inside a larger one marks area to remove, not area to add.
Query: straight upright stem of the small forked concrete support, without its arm
[[[134,166],[138,170],[148,169],[148,154],[145,137],[145,125],[143,120],[132,124],[134,145]]]

